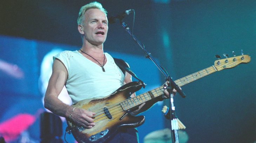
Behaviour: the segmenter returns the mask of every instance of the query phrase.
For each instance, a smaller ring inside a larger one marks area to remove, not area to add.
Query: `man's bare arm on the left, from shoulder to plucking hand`
[[[75,108],[74,112],[72,112],[73,107],[62,103],[62,101],[58,99],[58,95],[67,81],[67,77],[68,72],[63,63],[58,59],[54,60],[53,73],[50,77],[44,99],[45,108],[67,119],[69,119],[70,114],[72,114],[71,119],[76,125],[92,128],[95,125],[92,119],[95,113],[79,108]]]

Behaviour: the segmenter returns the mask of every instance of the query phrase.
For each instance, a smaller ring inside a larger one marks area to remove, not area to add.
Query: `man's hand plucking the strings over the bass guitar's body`
[[[74,111],[70,114],[72,114],[71,120],[75,123],[76,126],[82,126],[87,129],[95,126],[95,123],[93,122],[93,115],[95,115],[95,113],[93,112],[80,108],[75,108]]]

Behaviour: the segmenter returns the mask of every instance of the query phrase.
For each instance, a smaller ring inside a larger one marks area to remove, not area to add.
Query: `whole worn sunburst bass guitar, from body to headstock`
[[[216,71],[233,68],[240,63],[248,63],[250,60],[249,55],[216,60],[213,66],[182,77],[174,82],[178,86],[183,86]],[[141,88],[141,82],[130,82],[121,86],[106,98],[85,99],[74,103],[72,107],[96,113],[93,117],[96,125],[90,129],[76,126],[72,121],[67,120],[68,128],[71,130],[76,141],[79,143],[105,142],[115,135],[120,127],[134,128],[142,125],[145,119],[143,115],[133,116],[129,113],[142,103],[162,96],[163,86],[130,98],[132,93]]]

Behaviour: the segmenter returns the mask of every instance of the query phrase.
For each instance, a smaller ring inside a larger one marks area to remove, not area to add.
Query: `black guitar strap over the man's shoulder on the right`
[[[135,73],[130,69],[130,67],[127,65],[127,63],[122,59],[113,58],[116,65],[122,70],[123,74],[125,75],[125,72],[132,75],[134,78],[136,78],[138,81],[140,81],[143,84],[143,88],[145,88],[145,84],[142,80],[139,79],[139,77],[136,76]]]

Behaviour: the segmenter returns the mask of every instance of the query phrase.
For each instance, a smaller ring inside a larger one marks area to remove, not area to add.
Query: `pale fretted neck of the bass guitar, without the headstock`
[[[180,79],[178,79],[174,82],[178,86],[183,86],[185,84],[188,84],[190,82],[198,80],[199,78],[202,78],[202,77],[207,76],[211,73],[214,73],[215,71],[217,71],[216,68],[214,66],[211,66],[209,68],[200,70],[200,71],[198,71],[196,73],[193,73],[191,75],[182,77],[182,78],[180,78]],[[149,101],[149,100],[151,100],[153,98],[156,98],[158,96],[162,96],[163,95],[163,90],[162,89],[163,89],[163,86],[160,86],[159,88],[150,90],[150,91],[145,92],[145,93],[143,93],[141,95],[138,95],[136,97],[127,99],[127,100],[125,100],[121,103],[121,106],[122,106],[123,110],[125,110],[125,111],[129,110],[133,107],[139,106],[142,103],[145,103],[146,101]]]

